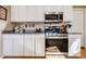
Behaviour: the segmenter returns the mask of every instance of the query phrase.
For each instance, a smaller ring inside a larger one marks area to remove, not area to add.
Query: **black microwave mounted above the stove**
[[[63,14],[45,14],[46,21],[61,21],[63,20]]]

